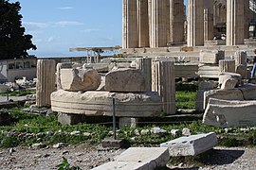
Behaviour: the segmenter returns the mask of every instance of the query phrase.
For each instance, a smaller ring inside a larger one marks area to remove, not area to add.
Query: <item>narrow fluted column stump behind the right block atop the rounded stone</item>
[[[146,91],[152,91],[152,59],[137,59],[137,69],[142,70],[146,79]]]

